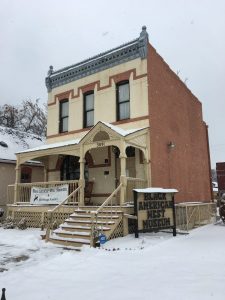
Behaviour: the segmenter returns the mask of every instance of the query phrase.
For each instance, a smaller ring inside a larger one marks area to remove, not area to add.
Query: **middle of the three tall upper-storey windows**
[[[94,92],[84,94],[84,128],[94,125]]]

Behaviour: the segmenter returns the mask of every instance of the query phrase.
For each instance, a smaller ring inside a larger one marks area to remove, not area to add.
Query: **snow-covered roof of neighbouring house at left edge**
[[[43,142],[43,137],[0,126],[0,159],[15,161],[15,153]]]

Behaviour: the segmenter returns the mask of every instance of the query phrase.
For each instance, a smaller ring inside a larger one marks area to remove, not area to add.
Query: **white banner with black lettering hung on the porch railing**
[[[32,187],[31,204],[59,204],[68,196],[68,184],[50,188]]]

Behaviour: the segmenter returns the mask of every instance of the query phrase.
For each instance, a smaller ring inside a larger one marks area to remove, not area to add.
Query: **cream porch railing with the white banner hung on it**
[[[48,181],[48,182],[31,182],[17,183],[8,186],[8,203],[28,204],[30,203],[30,195],[32,187],[51,188],[68,184],[68,191],[71,194],[78,187],[78,180],[67,181]],[[69,203],[68,203],[69,204]]]

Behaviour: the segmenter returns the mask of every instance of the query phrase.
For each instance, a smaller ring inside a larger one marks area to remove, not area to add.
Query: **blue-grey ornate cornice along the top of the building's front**
[[[146,26],[142,27],[140,36],[126,44],[95,55],[74,65],[54,71],[50,66],[45,79],[48,92],[53,88],[111,68],[135,58],[144,59],[147,56],[148,33]]]

